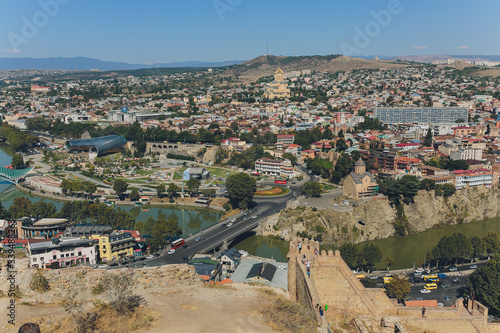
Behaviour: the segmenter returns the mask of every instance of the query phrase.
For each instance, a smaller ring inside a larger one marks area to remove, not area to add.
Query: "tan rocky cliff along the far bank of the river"
[[[404,205],[410,232],[500,216],[498,185],[463,189],[447,198],[436,196],[434,191],[421,191],[414,201]],[[285,238],[299,233],[303,237],[319,237],[323,243],[336,245],[392,236],[395,220],[396,209],[386,198],[376,198],[354,207],[285,209],[272,230],[281,237],[286,235]]]

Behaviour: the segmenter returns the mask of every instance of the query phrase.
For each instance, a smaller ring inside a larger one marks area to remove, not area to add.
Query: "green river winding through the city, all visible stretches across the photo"
[[[10,164],[14,151],[8,144],[0,143],[0,166]],[[0,201],[5,208],[8,208],[12,201],[19,196],[29,197],[32,202],[44,200],[52,202],[57,209],[61,208],[62,201],[45,199],[20,191],[14,185],[7,181],[0,181]],[[149,210],[141,207],[122,206],[116,209],[131,212],[136,221],[144,221],[148,217],[157,218],[161,215],[175,214],[179,218],[179,226],[183,231],[183,236],[195,233],[219,221],[222,213],[218,211],[181,207],[172,208],[151,207]],[[500,234],[500,218],[489,219],[468,224],[458,224],[433,228],[416,235],[404,237],[393,236],[386,239],[374,240],[364,244],[372,243],[382,250],[382,258],[391,257],[394,260],[393,269],[402,269],[413,267],[419,261],[423,262],[425,253],[431,251],[437,245],[439,239],[444,235],[450,235],[455,232],[462,232],[467,236],[484,236],[490,231],[496,231]],[[239,250],[245,250],[248,253],[265,258],[273,258],[279,262],[286,262],[288,253],[288,242],[271,237],[250,236],[244,240],[238,241],[234,247]],[[333,246],[322,246],[321,249],[333,249]],[[385,269],[384,263],[379,263],[377,269]]]

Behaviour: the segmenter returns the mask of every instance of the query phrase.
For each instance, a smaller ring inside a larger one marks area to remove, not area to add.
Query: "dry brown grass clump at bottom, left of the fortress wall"
[[[261,310],[269,326],[279,332],[317,332],[316,317],[309,309],[284,297],[275,298],[270,290],[264,289],[263,292],[274,298]]]

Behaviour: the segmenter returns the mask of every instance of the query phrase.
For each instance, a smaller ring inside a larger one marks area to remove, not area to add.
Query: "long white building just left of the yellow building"
[[[81,238],[53,238],[52,241],[28,243],[31,267],[58,268],[97,262],[95,241]]]

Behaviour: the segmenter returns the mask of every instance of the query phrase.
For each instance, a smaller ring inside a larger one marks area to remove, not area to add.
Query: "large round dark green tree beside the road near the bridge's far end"
[[[257,189],[255,179],[246,173],[237,173],[226,180],[229,201],[233,207],[248,208]]]

